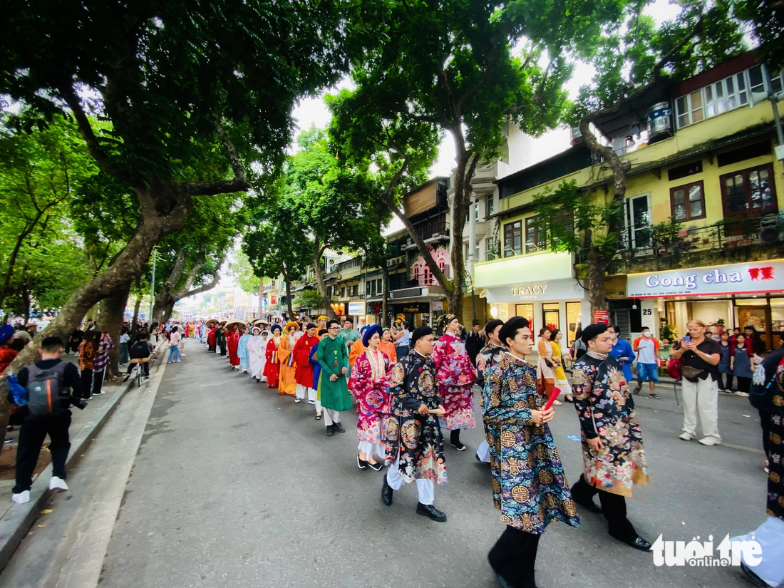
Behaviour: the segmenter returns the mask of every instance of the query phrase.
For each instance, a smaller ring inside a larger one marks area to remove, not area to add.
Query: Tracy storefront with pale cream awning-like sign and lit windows
[[[583,317],[590,318],[587,292],[573,278],[572,267],[568,253],[485,262],[477,264],[475,287],[487,300],[489,316],[502,321],[515,315],[528,318],[535,335],[543,326],[559,328],[565,347],[575,340]]]

